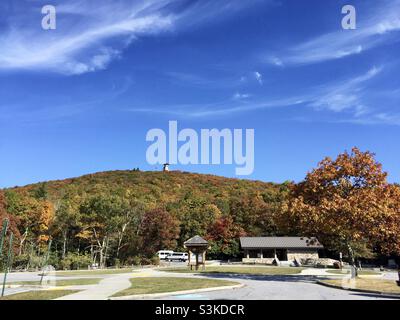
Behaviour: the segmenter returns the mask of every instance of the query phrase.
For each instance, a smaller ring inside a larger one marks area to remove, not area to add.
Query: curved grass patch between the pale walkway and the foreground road
[[[114,294],[118,296],[130,296],[134,294],[162,293],[183,291],[192,289],[212,288],[231,286],[238,284],[233,281],[216,279],[192,279],[192,278],[133,278],[130,279],[132,285],[130,288]]]

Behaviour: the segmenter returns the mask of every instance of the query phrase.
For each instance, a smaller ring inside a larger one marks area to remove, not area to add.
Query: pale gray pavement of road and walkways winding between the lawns
[[[315,272],[314,270],[312,270]],[[0,276],[2,276],[0,274]],[[129,286],[128,279],[132,277],[207,277],[214,279],[224,279],[240,282],[245,286],[237,289],[201,292],[195,294],[181,294],[164,296],[160,299],[166,300],[386,300],[388,298],[368,293],[359,293],[334,289],[318,285],[315,283],[315,275],[201,275],[201,274],[185,274],[185,273],[169,273],[151,269],[143,269],[139,272],[128,274],[104,275],[104,281],[98,286],[88,286],[80,295],[80,299],[106,299],[111,291],[122,290],[123,288],[113,288],[115,281],[121,282],[121,285]],[[67,279],[96,277],[91,276],[69,276]],[[396,279],[396,273],[387,273],[384,278]],[[58,277],[62,279],[65,277]],[[319,276],[319,279],[324,278]],[[39,280],[39,272],[11,273],[7,282]],[[89,290],[90,289],[90,290]],[[26,291],[27,288],[8,288],[7,294]],[[111,290],[111,291],[110,291]],[[110,291],[110,292],[109,292]],[[100,293],[104,293],[101,297]],[[71,297],[75,298],[75,297]]]

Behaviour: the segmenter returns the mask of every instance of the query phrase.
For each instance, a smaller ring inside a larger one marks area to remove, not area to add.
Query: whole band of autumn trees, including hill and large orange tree
[[[0,191],[14,268],[32,268],[52,239],[59,269],[155,263],[198,234],[210,258],[239,257],[240,236],[317,236],[333,254],[400,252],[400,188],[370,152],[326,158],[300,183],[186,172],[112,171]]]

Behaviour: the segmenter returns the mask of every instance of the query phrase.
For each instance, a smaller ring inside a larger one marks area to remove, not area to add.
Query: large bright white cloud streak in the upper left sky
[[[57,29],[42,30],[39,3],[24,1],[25,10],[14,12],[0,29],[0,70],[65,74],[102,70],[140,37],[245,6],[242,1],[229,2],[69,0],[56,5]]]

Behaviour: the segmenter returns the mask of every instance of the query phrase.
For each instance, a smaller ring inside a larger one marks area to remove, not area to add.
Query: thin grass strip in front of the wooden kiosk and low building
[[[207,267],[206,270],[190,270],[188,267],[185,268],[165,268],[159,269],[160,271],[167,272],[183,272],[183,273],[234,273],[234,274],[255,274],[255,275],[285,275],[285,274],[298,274],[304,268],[295,267]]]

